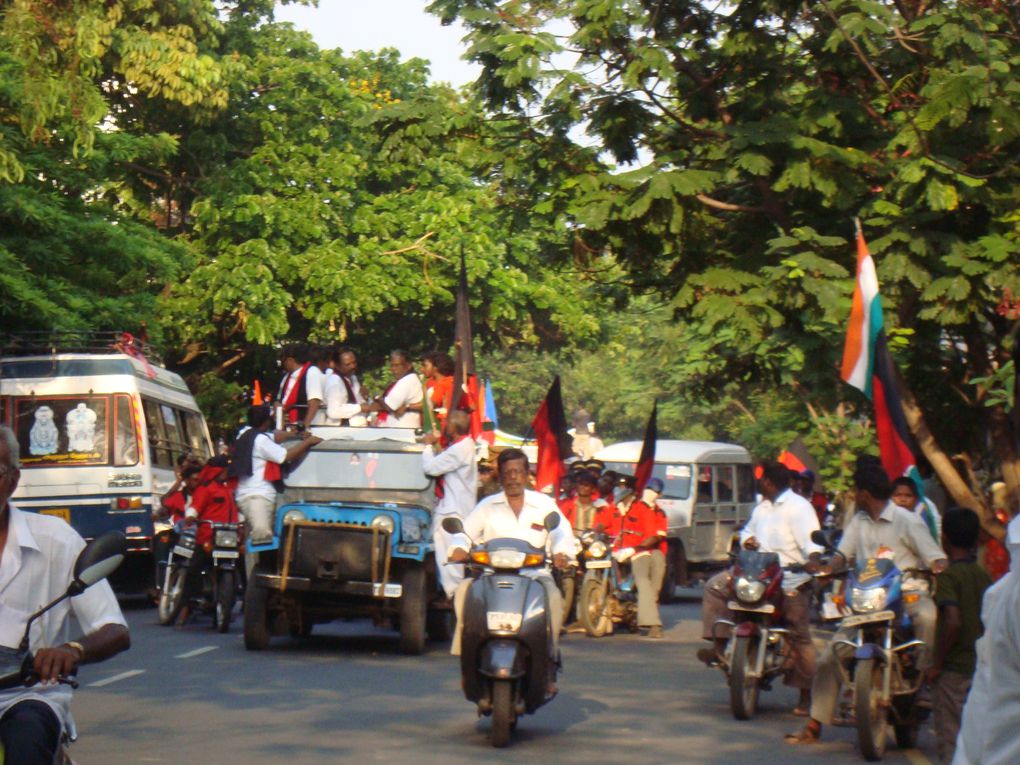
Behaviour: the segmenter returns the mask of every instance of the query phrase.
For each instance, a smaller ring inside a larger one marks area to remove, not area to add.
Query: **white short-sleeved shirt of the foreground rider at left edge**
[[[0,558],[0,645],[16,649],[29,617],[67,590],[85,540],[59,518],[8,507],[7,544]],[[30,634],[32,651],[71,640],[71,611],[84,634],[106,624],[128,626],[109,582],[103,580],[36,619]],[[32,699],[48,704],[66,724],[70,698],[70,686],[65,684],[0,691],[0,716],[16,702]]]

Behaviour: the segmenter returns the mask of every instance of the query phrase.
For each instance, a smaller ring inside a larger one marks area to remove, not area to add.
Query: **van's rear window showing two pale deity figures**
[[[15,398],[22,466],[108,465],[109,404],[109,396]]]

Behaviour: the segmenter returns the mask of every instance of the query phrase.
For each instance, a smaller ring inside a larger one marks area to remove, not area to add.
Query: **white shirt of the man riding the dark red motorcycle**
[[[811,503],[787,489],[775,498],[775,502],[762,500],[755,507],[741,531],[741,544],[754,537],[760,545],[759,550],[778,555],[781,565],[804,565],[812,553],[824,550],[811,541],[811,532],[818,528],[818,514]],[[806,573],[783,571],[783,590],[795,590],[810,578]]]

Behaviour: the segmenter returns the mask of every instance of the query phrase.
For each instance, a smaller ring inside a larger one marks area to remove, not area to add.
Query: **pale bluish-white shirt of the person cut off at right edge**
[[[963,708],[953,765],[1020,762],[1020,517],[1006,533],[1010,572],[984,591],[977,668]]]

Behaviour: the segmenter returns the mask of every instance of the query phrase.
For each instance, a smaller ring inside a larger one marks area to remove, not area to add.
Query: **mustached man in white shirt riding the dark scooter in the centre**
[[[519,449],[507,449],[497,458],[497,470],[503,491],[487,497],[464,520],[464,533],[456,534],[450,550],[450,561],[466,563],[471,544],[480,545],[489,540],[512,538],[523,540],[533,547],[551,550],[553,565],[566,568],[574,554],[573,531],[556,502],[539,492],[527,489],[527,455]],[[557,513],[559,525],[547,531],[546,516]],[[547,569],[528,573],[542,582],[549,604],[549,618],[552,623],[553,652],[559,649],[560,630],[563,628],[563,597]],[[460,638],[463,620],[464,601],[470,579],[465,579],[457,588],[454,596],[454,610],[457,613],[457,629],[454,632],[450,653],[460,655]]]

